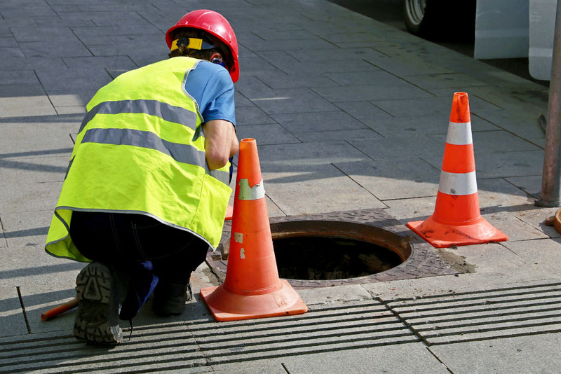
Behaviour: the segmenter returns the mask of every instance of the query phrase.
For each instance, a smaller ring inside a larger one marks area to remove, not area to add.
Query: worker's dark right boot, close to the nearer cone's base
[[[174,284],[160,281],[154,289],[152,311],[162,317],[177,316],[184,312],[185,303],[190,300],[193,300],[191,283]]]

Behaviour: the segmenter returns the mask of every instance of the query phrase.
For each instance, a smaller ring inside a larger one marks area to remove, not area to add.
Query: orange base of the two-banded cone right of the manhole
[[[425,221],[407,222],[407,227],[437,248],[508,240],[508,235],[482,217],[468,225],[447,225],[430,216]]]

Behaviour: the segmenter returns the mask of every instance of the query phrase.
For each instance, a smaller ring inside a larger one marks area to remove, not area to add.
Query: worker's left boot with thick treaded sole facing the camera
[[[76,277],[78,312],[74,337],[96,345],[123,342],[119,308],[126,286],[114,270],[103,263],[89,263]]]

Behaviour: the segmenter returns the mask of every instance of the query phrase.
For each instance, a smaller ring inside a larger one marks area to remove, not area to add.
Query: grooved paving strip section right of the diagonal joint
[[[386,303],[427,345],[561,332],[561,283]]]

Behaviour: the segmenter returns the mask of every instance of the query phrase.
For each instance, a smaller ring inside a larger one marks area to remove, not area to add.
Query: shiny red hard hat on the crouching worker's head
[[[175,29],[181,29],[182,27],[204,30],[223,41],[230,49],[232,60],[234,60],[229,69],[230,76],[232,77],[232,81],[238,81],[240,76],[238,41],[236,40],[234,29],[232,29],[224,16],[215,11],[209,11],[208,9],[200,9],[187,13],[177,21],[175,26],[171,27],[168,32],[165,33],[165,41],[168,43],[169,48],[171,48],[171,43],[173,43],[173,32]]]

